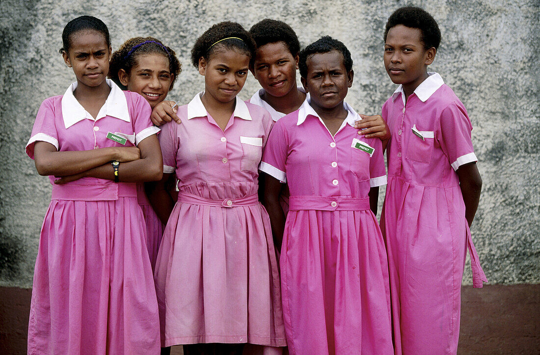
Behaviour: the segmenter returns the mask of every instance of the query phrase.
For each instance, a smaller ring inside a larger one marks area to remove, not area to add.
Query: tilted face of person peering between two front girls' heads
[[[255,52],[253,76],[269,95],[282,97],[296,88],[296,69],[298,55],[284,42],[267,43]]]

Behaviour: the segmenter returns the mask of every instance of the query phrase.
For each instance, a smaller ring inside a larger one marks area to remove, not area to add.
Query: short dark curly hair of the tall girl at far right
[[[439,30],[433,16],[429,15],[426,10],[415,8],[414,6],[406,6],[394,11],[388,17],[386,29],[384,29],[384,42],[386,42],[388,31],[397,25],[419,29],[422,32],[421,40],[426,50],[431,47],[438,49],[439,44],[441,44],[441,30]]]

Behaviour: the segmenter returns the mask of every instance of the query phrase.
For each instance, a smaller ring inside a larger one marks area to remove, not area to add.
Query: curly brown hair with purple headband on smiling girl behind
[[[169,71],[174,74],[169,90],[172,90],[174,81],[182,71],[182,65],[176,57],[176,53],[170,48],[161,43],[159,39],[153,37],[134,37],[126,40],[117,51],[114,51],[109,64],[109,78],[114,83],[125,89],[118,78],[118,71],[124,69],[127,74],[130,74],[131,69],[136,66],[137,58],[141,54],[161,54],[168,59]]]

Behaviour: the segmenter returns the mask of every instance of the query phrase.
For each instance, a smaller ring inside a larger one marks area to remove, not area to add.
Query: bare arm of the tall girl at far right
[[[465,219],[469,227],[473,224],[478,202],[480,202],[480,193],[482,191],[482,178],[476,162],[468,163],[457,169],[457,176],[460,179],[461,194],[465,203]]]

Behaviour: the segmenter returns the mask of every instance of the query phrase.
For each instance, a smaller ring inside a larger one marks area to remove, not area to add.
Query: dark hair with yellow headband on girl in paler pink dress
[[[224,21],[213,25],[197,38],[191,50],[191,63],[199,68],[201,57],[209,60],[212,53],[223,48],[244,53],[251,60],[255,57],[255,41],[249,32],[239,23]]]

